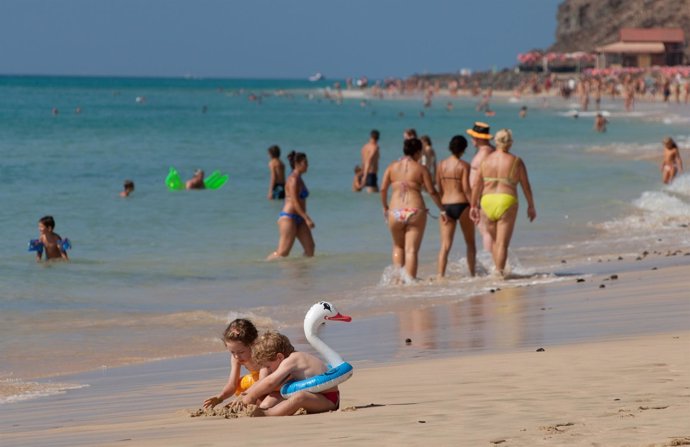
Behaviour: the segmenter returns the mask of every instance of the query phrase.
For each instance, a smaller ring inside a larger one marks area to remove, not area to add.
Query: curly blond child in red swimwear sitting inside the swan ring
[[[324,413],[337,410],[340,406],[337,386],[320,393],[298,391],[287,399],[276,391],[288,381],[304,380],[328,370],[319,358],[306,352],[296,352],[285,335],[274,331],[262,334],[254,343],[252,357],[268,373],[241,394],[244,405],[260,402],[252,416],[291,416],[300,408],[307,413]]]

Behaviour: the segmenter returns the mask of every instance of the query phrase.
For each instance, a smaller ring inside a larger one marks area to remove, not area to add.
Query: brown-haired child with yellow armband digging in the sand
[[[252,344],[256,341],[258,332],[254,324],[238,318],[228,325],[223,333],[223,342],[230,352],[230,376],[219,395],[209,397],[204,401],[204,408],[213,408],[233,394],[238,395],[242,391],[258,382],[265,370],[260,371],[259,366],[252,360]],[[240,377],[240,369],[245,367],[249,374]]]

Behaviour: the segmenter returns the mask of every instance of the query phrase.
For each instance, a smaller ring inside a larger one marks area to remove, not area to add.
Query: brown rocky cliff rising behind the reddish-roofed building
[[[690,0],[565,0],[556,17],[551,51],[593,51],[618,41],[621,28],[679,27],[690,42]],[[690,64],[690,45],[685,59]]]

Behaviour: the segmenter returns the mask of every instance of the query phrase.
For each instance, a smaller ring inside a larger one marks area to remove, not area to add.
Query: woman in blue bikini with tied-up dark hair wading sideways
[[[292,151],[288,154],[288,161],[292,168],[292,173],[285,184],[285,205],[278,217],[278,248],[268,255],[268,260],[283,258],[290,254],[292,245],[297,239],[302,248],[304,256],[314,256],[314,238],[311,229],[314,228],[314,221],[307,214],[307,197],[309,190],[302,180],[302,174],[306,174],[309,169],[309,162],[306,154]]]

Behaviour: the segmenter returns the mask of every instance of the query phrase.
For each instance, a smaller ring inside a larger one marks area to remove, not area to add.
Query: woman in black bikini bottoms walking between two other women
[[[453,246],[455,226],[459,223],[467,244],[467,267],[474,276],[477,247],[474,243],[474,224],[470,220],[470,165],[460,157],[465,153],[467,140],[456,135],[448,144],[451,156],[439,163],[436,169],[436,184],[447,219],[439,220],[441,249],[438,252],[438,277],[443,278],[448,264],[448,253]]]

